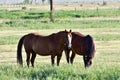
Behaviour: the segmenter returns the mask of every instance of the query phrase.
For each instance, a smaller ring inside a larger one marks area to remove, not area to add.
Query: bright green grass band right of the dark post
[[[110,17],[119,16],[119,9],[84,9],[84,10],[61,10],[55,11],[55,17],[57,18],[86,18],[86,17]]]

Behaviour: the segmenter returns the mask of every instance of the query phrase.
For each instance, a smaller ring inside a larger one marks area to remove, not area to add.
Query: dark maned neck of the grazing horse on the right
[[[95,53],[95,44],[93,41],[93,38],[90,35],[87,35],[89,44],[88,44],[88,51],[89,51],[89,56],[94,57]]]

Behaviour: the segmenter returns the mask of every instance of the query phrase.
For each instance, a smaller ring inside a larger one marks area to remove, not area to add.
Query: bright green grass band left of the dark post
[[[48,17],[49,12],[39,10],[0,10],[2,19],[38,19]]]

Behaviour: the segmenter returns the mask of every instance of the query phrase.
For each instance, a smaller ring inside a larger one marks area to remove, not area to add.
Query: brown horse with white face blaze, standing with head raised
[[[17,62],[23,66],[22,60],[22,45],[24,45],[25,52],[27,55],[27,66],[31,64],[34,67],[34,60],[36,54],[42,56],[51,55],[51,62],[54,65],[54,58],[57,56],[57,65],[59,66],[59,62],[62,56],[62,52],[64,50],[65,45],[70,42],[69,36],[71,35],[70,31],[60,31],[58,33],[53,33],[49,36],[42,36],[37,33],[30,33],[24,35],[18,43],[17,47]],[[32,56],[31,56],[32,54]]]

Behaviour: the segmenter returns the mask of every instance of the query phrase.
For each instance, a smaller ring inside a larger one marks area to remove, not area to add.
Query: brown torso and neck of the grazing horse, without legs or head
[[[72,37],[72,49],[75,53],[83,55],[87,51],[94,51],[95,46],[92,36],[84,36],[79,32],[74,32]]]

